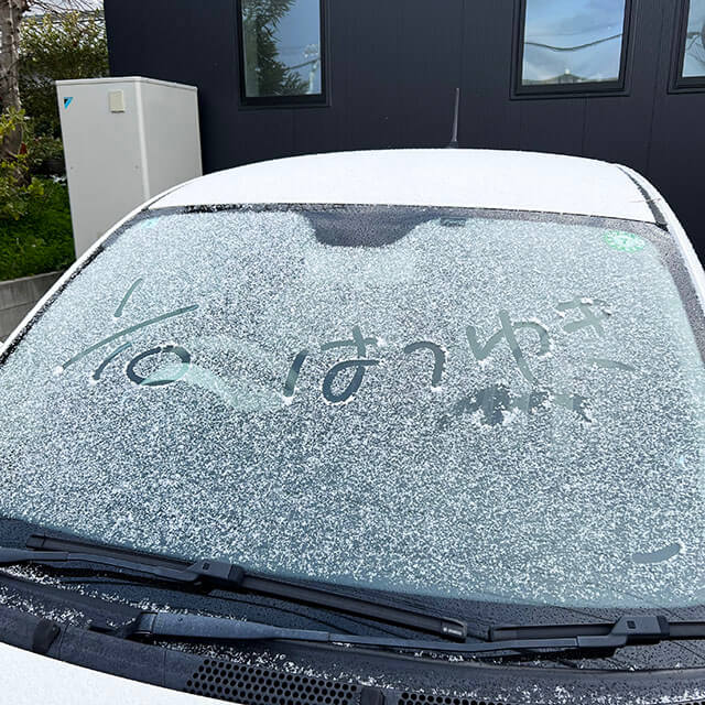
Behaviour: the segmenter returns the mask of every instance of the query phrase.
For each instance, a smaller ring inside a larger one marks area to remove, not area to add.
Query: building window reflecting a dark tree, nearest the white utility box
[[[239,0],[245,105],[326,101],[324,0]]]

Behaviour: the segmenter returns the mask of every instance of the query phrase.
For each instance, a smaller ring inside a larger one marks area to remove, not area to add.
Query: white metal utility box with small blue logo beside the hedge
[[[56,83],[76,256],[162,191],[200,176],[198,96],[151,78]]]

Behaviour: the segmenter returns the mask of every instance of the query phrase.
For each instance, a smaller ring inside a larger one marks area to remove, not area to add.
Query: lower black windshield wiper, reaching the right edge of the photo
[[[123,638],[176,639],[185,641],[297,641],[376,647],[400,651],[479,654],[497,651],[571,650],[614,652],[627,646],[654,644],[681,639],[705,639],[705,622],[670,622],[662,616],[627,615],[611,623],[510,627],[490,630],[489,642],[448,643],[421,639],[338,634],[328,631],[288,629],[251,621],[194,614],[144,611],[119,628],[101,628]],[[554,636],[531,636],[553,630]],[[520,638],[516,634],[522,634]]]

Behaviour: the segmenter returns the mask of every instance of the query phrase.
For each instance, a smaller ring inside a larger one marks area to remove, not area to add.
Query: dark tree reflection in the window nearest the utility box
[[[276,58],[276,28],[291,6],[292,0],[242,0],[247,83],[258,86],[260,96],[295,96],[306,90],[306,82]]]

